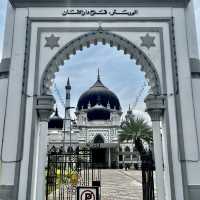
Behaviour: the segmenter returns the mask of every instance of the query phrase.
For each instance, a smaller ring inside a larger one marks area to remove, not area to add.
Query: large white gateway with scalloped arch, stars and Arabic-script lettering
[[[55,72],[97,42],[123,50],[145,72],[158,199],[198,200],[200,62],[189,0],[10,0],[0,65],[0,199],[43,199]]]

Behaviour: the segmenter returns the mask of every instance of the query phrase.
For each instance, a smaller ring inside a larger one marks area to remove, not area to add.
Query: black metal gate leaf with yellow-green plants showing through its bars
[[[77,186],[100,186],[101,171],[92,163],[90,150],[48,154],[47,200],[75,200]]]

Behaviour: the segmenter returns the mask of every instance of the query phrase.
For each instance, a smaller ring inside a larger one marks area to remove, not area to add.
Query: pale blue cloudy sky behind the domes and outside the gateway
[[[6,2],[7,0],[0,0],[0,59],[2,57]],[[200,0],[194,0],[194,2],[200,44]],[[129,56],[124,55],[122,51],[117,51],[108,45],[98,44],[97,46],[85,48],[83,51],[71,56],[71,59],[66,61],[65,65],[61,66],[60,71],[56,74],[55,84],[62,100],[58,98],[55,88],[53,92],[61,116],[63,116],[61,101],[64,101],[65,98],[64,86],[67,78],[70,77],[72,85],[71,105],[76,106],[79,96],[96,81],[98,68],[104,85],[120,99],[123,112],[127,111],[129,104],[131,106],[134,104],[144,85],[144,74],[135,65],[134,60],[130,60]],[[136,113],[145,110],[143,100],[147,91],[148,87],[145,87],[135,108],[135,110],[138,110],[135,111]],[[74,117],[73,112],[72,117]]]

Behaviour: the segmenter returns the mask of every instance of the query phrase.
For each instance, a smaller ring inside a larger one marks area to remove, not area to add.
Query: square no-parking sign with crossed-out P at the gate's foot
[[[99,200],[99,188],[77,187],[77,200]]]

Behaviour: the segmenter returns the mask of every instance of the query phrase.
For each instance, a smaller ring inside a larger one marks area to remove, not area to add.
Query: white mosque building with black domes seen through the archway
[[[119,98],[102,83],[99,73],[97,81],[78,100],[76,120],[70,118],[71,85],[66,89],[65,118],[58,110],[49,120],[48,149],[66,152],[90,148],[92,160],[105,168],[118,168],[137,164],[139,156],[132,142],[118,142],[122,108]],[[133,117],[132,111],[126,117]]]

